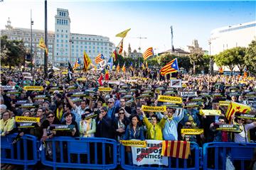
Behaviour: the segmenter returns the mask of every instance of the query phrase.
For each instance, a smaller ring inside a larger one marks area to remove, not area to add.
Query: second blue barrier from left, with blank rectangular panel
[[[117,167],[117,142],[97,137],[53,137],[46,141],[41,162],[54,169],[114,169]]]

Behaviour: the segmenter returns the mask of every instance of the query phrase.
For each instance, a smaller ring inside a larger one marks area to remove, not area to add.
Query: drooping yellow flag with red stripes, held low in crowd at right
[[[228,110],[225,113],[225,116],[229,121],[231,121],[231,116],[234,115],[236,112],[249,113],[250,110],[250,106],[231,101],[230,105],[228,106]]]

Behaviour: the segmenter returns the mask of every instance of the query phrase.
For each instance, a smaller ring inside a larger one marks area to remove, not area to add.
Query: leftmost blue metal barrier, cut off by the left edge
[[[35,165],[38,162],[38,149],[36,137],[23,135],[21,140],[12,144],[17,134],[1,137],[1,163],[23,165]]]

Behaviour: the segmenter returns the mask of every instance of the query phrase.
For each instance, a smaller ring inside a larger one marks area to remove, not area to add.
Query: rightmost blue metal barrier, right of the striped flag
[[[233,162],[235,169],[245,169],[245,164],[247,167],[250,165],[255,148],[256,143],[205,143],[203,145],[203,169],[226,169],[227,157]]]

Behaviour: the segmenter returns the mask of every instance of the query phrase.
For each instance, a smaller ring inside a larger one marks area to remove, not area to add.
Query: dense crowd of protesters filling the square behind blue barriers
[[[18,132],[35,135],[46,141],[55,136],[107,137],[114,140],[186,140],[203,145],[205,142],[255,142],[256,122],[232,116],[232,123],[241,132],[215,130],[215,125],[229,123],[227,106],[220,101],[255,101],[255,77],[176,74],[182,87],[172,88],[170,75],[161,76],[156,70],[133,69],[127,72],[110,71],[110,81],[99,82],[101,71],[77,71],[73,79],[63,72],[52,72],[48,78],[42,72],[27,77],[21,71],[1,71],[1,136]],[[78,79],[85,78],[85,79]],[[100,91],[100,84],[110,91]],[[15,86],[6,90],[4,86]],[[43,86],[42,91],[26,91],[24,86]],[[146,93],[145,93],[146,91]],[[171,106],[157,100],[158,95],[181,96],[183,91],[196,91],[201,104],[186,107],[195,101],[183,97],[181,106]],[[82,92],[79,94],[78,92]],[[146,94],[146,95],[145,95]],[[38,96],[43,96],[42,98]],[[33,103],[23,108],[23,103]],[[167,111],[144,112],[144,106],[167,106]],[[221,115],[202,115],[199,110],[220,110]],[[86,118],[88,114],[94,117]],[[251,107],[250,114],[255,114]],[[17,128],[15,116],[40,118],[36,128]],[[55,132],[50,125],[75,125],[73,130]],[[182,128],[203,129],[201,135],[181,134]]]

